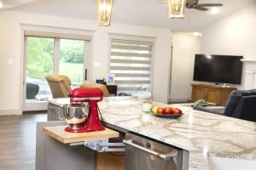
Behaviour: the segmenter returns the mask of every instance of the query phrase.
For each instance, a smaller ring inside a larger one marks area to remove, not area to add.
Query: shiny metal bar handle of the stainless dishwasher
[[[167,154],[160,154],[156,151],[153,151],[153,150],[148,150],[147,148],[144,148],[143,146],[140,146],[138,144],[134,144],[132,143],[132,140],[123,140],[123,143],[124,144],[128,144],[130,146],[133,146],[135,148],[137,148],[138,150],[143,150],[145,152],[147,152],[148,154],[151,154],[153,156],[157,156],[165,161],[171,161],[173,156],[176,156],[177,155],[177,150],[172,150],[170,153],[167,153]]]

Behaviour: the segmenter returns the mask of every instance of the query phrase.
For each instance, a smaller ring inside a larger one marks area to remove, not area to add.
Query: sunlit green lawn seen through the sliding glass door
[[[42,66],[27,65],[28,76],[38,79],[45,79],[45,76],[52,73],[52,71],[44,72]],[[71,82],[83,82],[83,64],[61,63],[60,74],[66,75]]]

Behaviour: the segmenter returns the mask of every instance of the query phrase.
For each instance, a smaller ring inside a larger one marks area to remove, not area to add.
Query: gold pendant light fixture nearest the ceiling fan
[[[169,19],[184,19],[187,0],[169,0]]]

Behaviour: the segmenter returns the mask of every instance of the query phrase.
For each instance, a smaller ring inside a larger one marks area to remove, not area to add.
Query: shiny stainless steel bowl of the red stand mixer
[[[67,124],[73,128],[80,128],[84,124],[89,112],[89,105],[63,105],[63,115]]]

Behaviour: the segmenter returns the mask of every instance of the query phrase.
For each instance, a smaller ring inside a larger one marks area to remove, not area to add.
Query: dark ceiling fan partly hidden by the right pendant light
[[[222,3],[200,3],[198,4],[199,0],[187,0],[186,8],[195,8],[201,11],[209,10],[206,7],[222,7]],[[168,4],[168,0],[160,0],[160,4]]]

